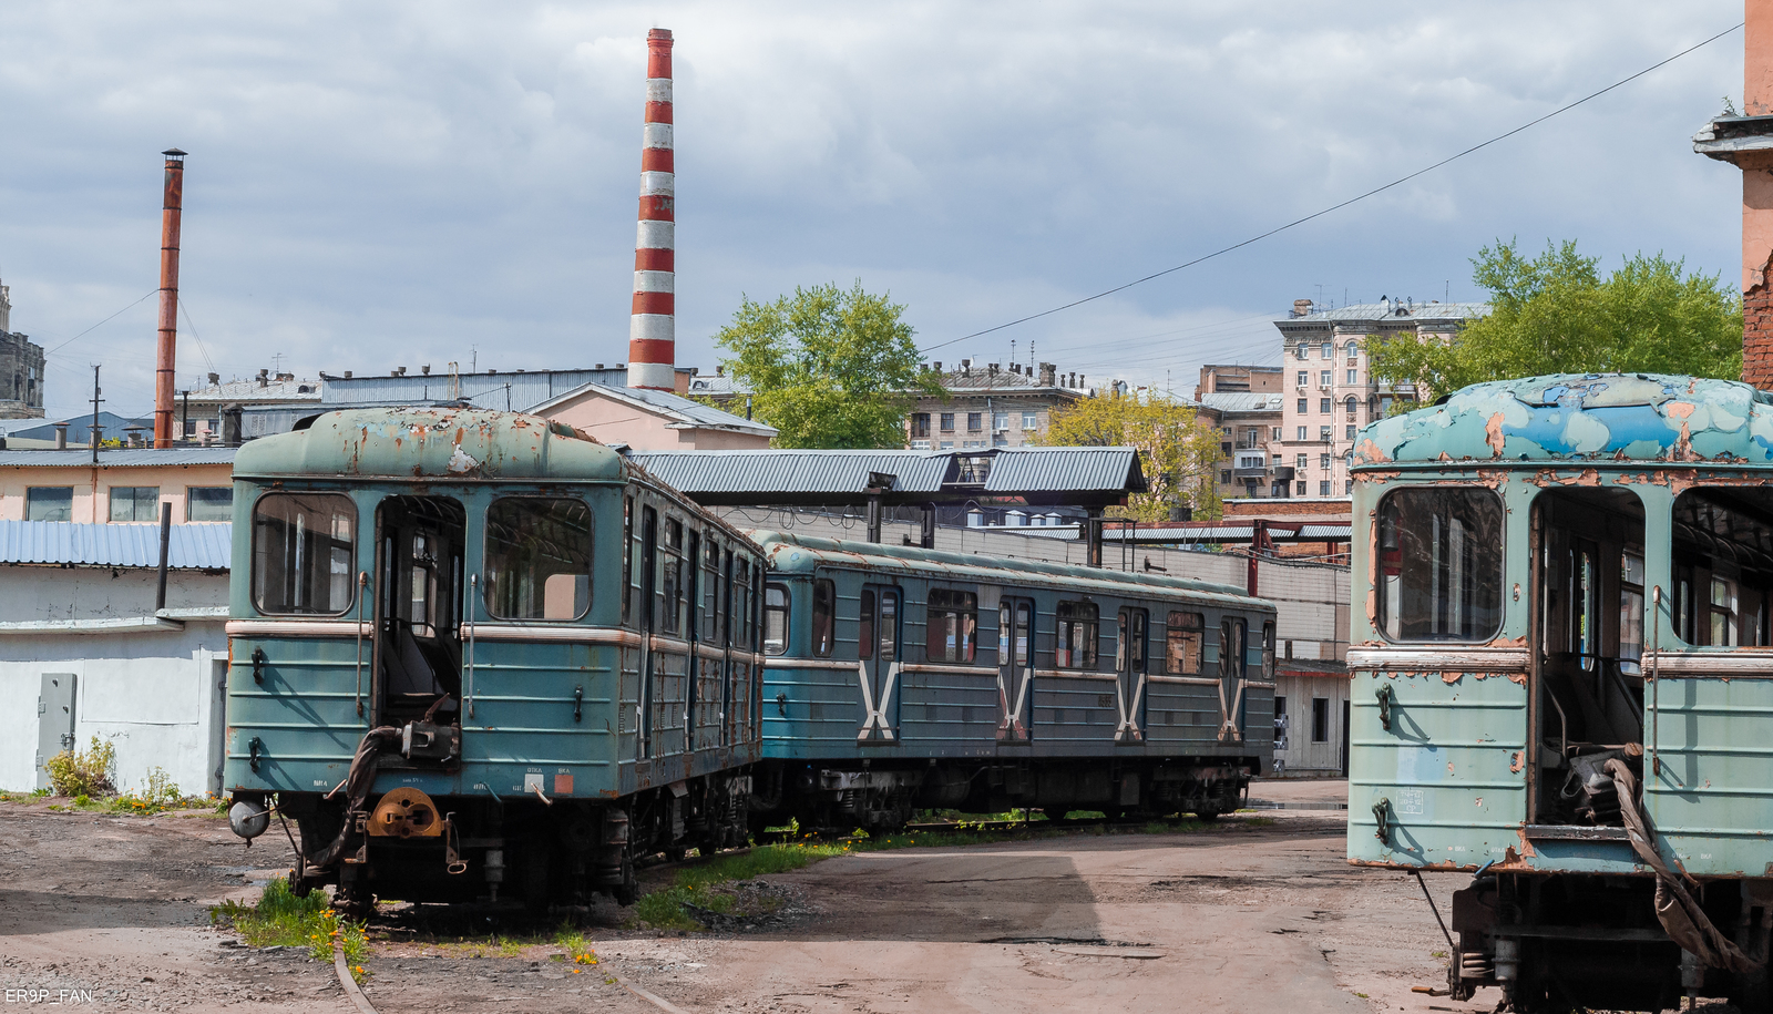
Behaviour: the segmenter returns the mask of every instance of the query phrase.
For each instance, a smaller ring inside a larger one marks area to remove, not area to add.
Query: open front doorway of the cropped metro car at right
[[[1644,752],[1644,505],[1543,493],[1534,542],[1532,823],[1621,826],[1605,768]]]

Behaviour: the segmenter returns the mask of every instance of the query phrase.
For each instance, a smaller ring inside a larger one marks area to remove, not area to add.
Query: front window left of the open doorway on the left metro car
[[[356,587],[355,553],[349,496],[269,493],[252,507],[252,597],[261,613],[344,613]]]

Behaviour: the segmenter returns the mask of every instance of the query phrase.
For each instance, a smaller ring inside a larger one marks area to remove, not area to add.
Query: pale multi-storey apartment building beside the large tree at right
[[[1417,303],[1385,300],[1332,310],[1296,300],[1293,314],[1275,321],[1284,346],[1280,438],[1269,454],[1293,468],[1293,496],[1347,496],[1355,482],[1347,459],[1362,425],[1381,418],[1399,401],[1417,401],[1413,383],[1379,383],[1367,351],[1399,333],[1452,340],[1488,303]]]

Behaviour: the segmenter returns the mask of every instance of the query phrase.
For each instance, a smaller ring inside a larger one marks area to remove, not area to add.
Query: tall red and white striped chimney
[[[635,312],[628,324],[628,386],[676,390],[677,213],[670,122],[670,30],[647,32],[647,128],[640,149],[640,236]]]

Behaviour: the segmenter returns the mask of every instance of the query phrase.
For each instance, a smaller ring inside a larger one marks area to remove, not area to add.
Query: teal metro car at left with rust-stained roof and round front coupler
[[[762,557],[571,427],[362,410],[234,463],[227,785],[294,886],[635,897],[745,838]]]

